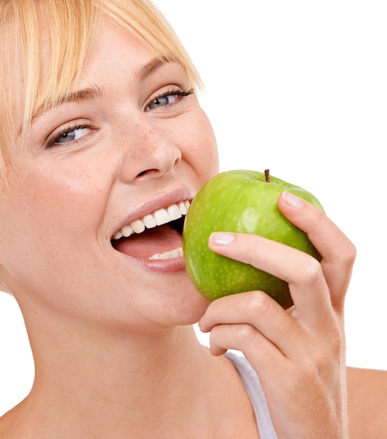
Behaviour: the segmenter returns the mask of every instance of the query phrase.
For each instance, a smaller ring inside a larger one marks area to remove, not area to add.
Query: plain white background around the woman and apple
[[[202,74],[221,170],[270,168],[314,193],[356,244],[348,364],[387,369],[386,2],[156,4]],[[33,376],[20,312],[7,295],[0,295],[0,353],[1,414]]]

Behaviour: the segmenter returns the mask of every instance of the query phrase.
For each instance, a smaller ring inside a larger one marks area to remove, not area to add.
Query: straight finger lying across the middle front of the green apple
[[[226,237],[232,238],[227,242]],[[216,232],[209,247],[220,255],[251,264],[288,282],[300,315],[309,323],[321,324],[331,311],[328,285],[319,262],[307,253],[262,236]]]

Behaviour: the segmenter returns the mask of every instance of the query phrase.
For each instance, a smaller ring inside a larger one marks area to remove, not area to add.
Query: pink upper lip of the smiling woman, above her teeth
[[[120,231],[122,227],[132,224],[138,219],[143,219],[146,215],[153,214],[156,210],[160,210],[162,208],[168,208],[170,205],[181,203],[182,201],[192,201],[194,193],[188,189],[178,189],[175,191],[171,191],[168,194],[163,194],[157,198],[153,198],[138,209],[131,212],[125,219],[118,224],[118,227],[113,232],[111,239],[114,239],[113,236],[116,232]]]

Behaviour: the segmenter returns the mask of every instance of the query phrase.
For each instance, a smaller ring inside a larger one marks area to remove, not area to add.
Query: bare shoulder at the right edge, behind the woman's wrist
[[[347,368],[349,437],[387,438],[387,371]]]

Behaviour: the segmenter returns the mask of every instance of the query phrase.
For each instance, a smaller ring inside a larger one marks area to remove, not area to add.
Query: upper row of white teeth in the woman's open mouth
[[[159,209],[153,212],[153,214],[146,215],[142,219],[136,219],[136,221],[122,227],[122,229],[115,232],[112,239],[120,239],[122,236],[127,238],[132,233],[141,234],[145,229],[151,229],[152,227],[161,226],[175,219],[181,218],[182,215],[186,215],[188,208],[190,207],[190,201],[181,201],[178,204],[172,204],[168,208]],[[180,249],[178,249],[180,251]],[[177,251],[177,250],[176,250]],[[165,255],[171,252],[165,253]],[[163,253],[164,255],[164,253]],[[156,256],[156,255],[155,255]],[[169,257],[152,257],[153,259],[169,259]]]

